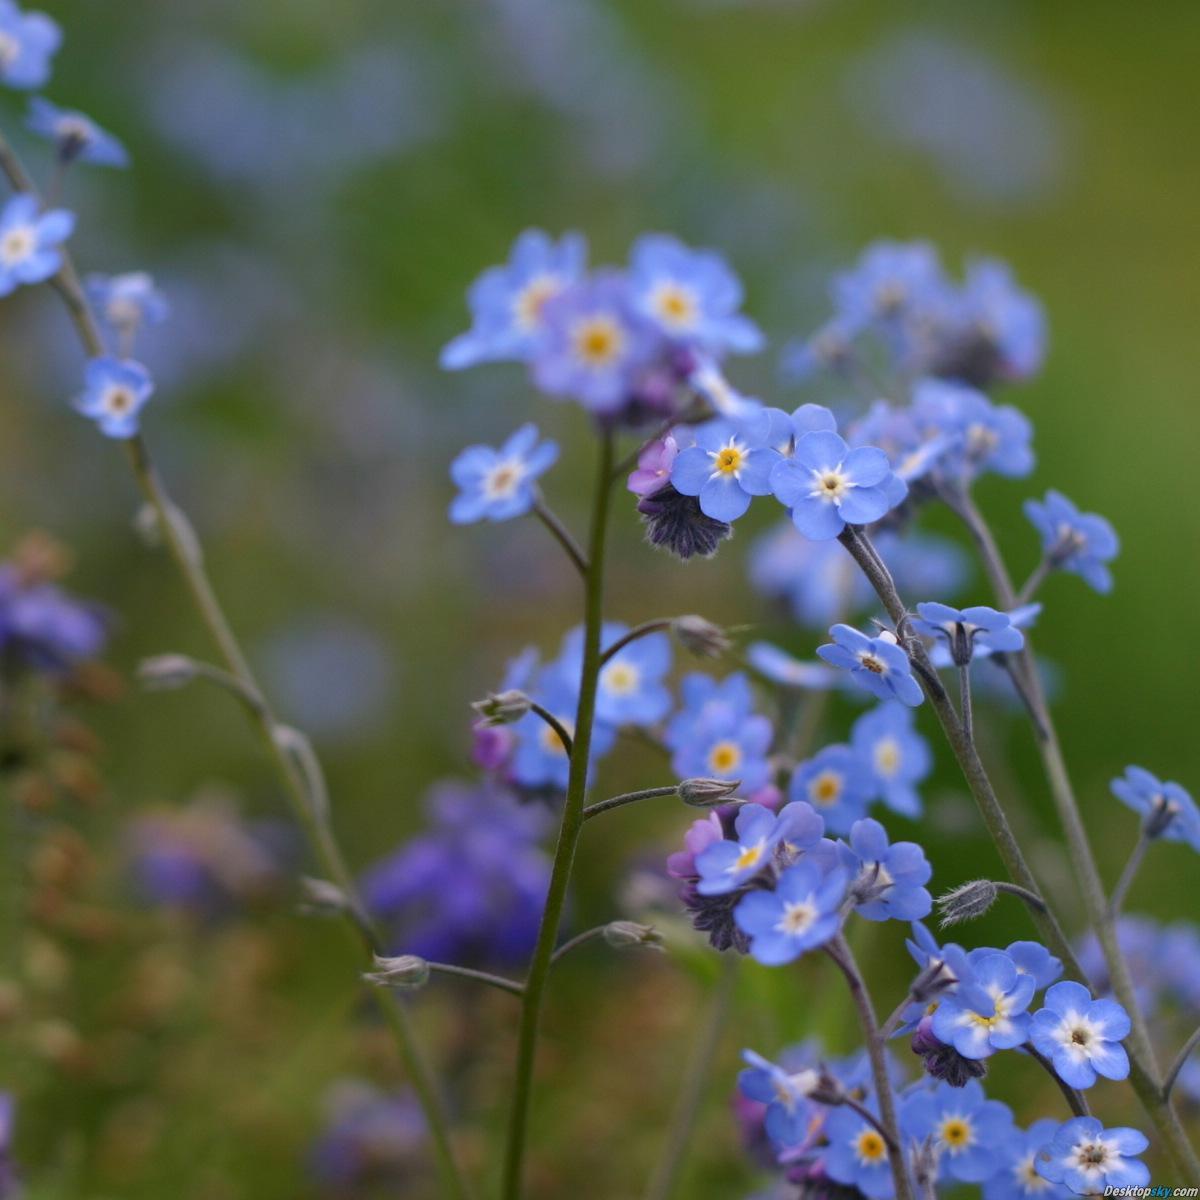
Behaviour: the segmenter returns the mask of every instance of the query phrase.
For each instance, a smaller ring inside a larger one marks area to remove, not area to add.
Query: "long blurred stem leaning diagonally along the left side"
[[[37,194],[32,181],[2,134],[0,134],[0,170],[4,170],[12,185],[19,191]],[[85,353],[92,358],[102,355],[106,352],[104,340],[79,282],[74,260],[66,248],[61,253],[62,266],[52,283],[67,307]],[[350,940],[355,943],[355,952],[360,955],[365,954],[368,962],[373,961],[373,955],[380,949],[380,944],[356,898],[354,877],[342,857],[341,847],[337,845],[329,824],[328,814],[320,811],[313,803],[314,797],[310,788],[311,780],[306,779],[295,757],[288,750],[287,743],[278,737],[278,731],[284,727],[276,720],[224,610],[221,607],[205,571],[196,534],[181,510],[167,494],[142,434],[126,440],[124,449],[138,488],[157,517],[172,562],[182,578],[197,614],[216,644],[226,668],[247,695],[258,698],[257,710],[247,710],[251,712],[252,722],[268,757],[283,781],[293,816],[304,829],[313,856],[320,864],[323,874],[347,898],[346,928]],[[454,1196],[455,1200],[470,1200],[474,1192],[455,1156],[445,1102],[418,1046],[416,1031],[408,1009],[390,992],[377,992],[376,1000],[384,1021],[396,1039],[401,1061],[408,1073],[413,1091],[425,1111],[434,1154],[449,1188],[449,1195]]]

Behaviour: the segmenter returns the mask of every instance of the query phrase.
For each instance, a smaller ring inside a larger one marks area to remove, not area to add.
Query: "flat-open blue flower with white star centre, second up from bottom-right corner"
[[[1129,1056],[1121,1045],[1129,1030],[1129,1014],[1115,1000],[1092,1000],[1082,984],[1068,979],[1046,992],[1045,1008],[1033,1014],[1030,1040],[1060,1079],[1091,1087],[1097,1075],[1129,1078]]]

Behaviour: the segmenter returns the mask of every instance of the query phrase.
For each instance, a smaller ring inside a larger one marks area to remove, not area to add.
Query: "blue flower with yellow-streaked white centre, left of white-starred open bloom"
[[[1032,976],[998,950],[971,959],[971,978],[959,983],[934,1013],[934,1036],[954,1046],[964,1058],[986,1058],[1025,1042],[1026,1009],[1033,998]]]

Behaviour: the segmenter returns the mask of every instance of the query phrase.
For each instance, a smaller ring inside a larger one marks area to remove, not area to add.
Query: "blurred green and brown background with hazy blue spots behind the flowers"
[[[868,241],[928,238],[954,268],[970,252],[1009,260],[1050,322],[1044,372],[1006,397],[1036,422],[1039,466],[988,482],[983,503],[1019,576],[1036,558],[1020,502],[1046,486],[1123,539],[1115,593],[1051,581],[1039,631],[1110,878],[1134,821],[1108,780],[1127,762],[1200,779],[1195,5],[1159,4],[1152,19],[1037,0],[42,7],[67,35],[47,94],[134,158],[128,174],[71,178],[74,248],[85,270],[152,270],[174,304],[144,355],[160,382],[149,437],[281,709],[316,740],[356,866],[420,827],[433,781],[469,773],[467,704],[504,661],[529,642],[553,650],[577,619],[576,581],[535,526],[451,532],[444,516],[457,449],[535,419],[565,448],[552,502],[583,520],[580,413],[533,396],[516,370],[437,368],[466,286],[528,226],[584,230],[598,262],[622,260],[646,230],[720,247],[772,343],[736,378],[787,408],[814,397],[781,382],[779,352],[821,320],[830,270]],[[0,121],[44,172],[22,107],[0,97]],[[114,614],[119,677],[149,654],[206,653],[169,564],[133,530],[119,455],[66,403],[80,361],[48,290],[5,301],[0,365],[0,545],[37,528],[72,547],[71,587]],[[617,618],[700,611],[811,653],[817,631],[746,582],[766,512],[713,562],[682,568],[641,542],[631,503],[618,511]],[[850,713],[834,709],[830,739]],[[103,746],[100,785],[54,800],[31,833],[74,864],[83,916],[26,935],[18,973],[32,983],[5,1008],[0,1082],[22,1097],[34,1194],[317,1195],[329,1090],[401,1082],[362,1019],[354,962],[287,898],[216,923],[148,911],[119,852],[136,814],[199,793],[280,817],[268,766],[216,691],[128,685],[83,715]],[[997,719],[990,737],[1038,868],[1078,918],[1027,732]],[[662,773],[634,749],[605,784]],[[928,796],[935,884],[995,872],[944,754]],[[647,809],[589,829],[572,926],[625,911],[631,872],[688,818]],[[1195,917],[1192,865],[1164,848],[1134,907]],[[1004,910],[968,936],[1003,944],[1019,922]],[[881,996],[898,995],[899,931],[871,930],[860,953]],[[556,978],[530,1195],[640,1193],[715,968],[686,952],[596,950]],[[847,1049],[833,985],[820,965],[743,973],[680,1195],[752,1189],[728,1111],[737,1051],[772,1052],[814,1022]],[[512,1006],[450,983],[416,1008],[455,1072],[470,1159],[494,1170]],[[996,1069],[997,1094],[1054,1111],[1052,1086],[1021,1068]],[[1102,1109],[1120,1105],[1111,1091]],[[404,1188],[436,1194],[419,1165]]]

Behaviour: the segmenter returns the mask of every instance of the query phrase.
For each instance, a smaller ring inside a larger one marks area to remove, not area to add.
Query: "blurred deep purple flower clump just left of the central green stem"
[[[390,930],[388,948],[439,962],[523,962],[550,886],[545,809],[451,781],[430,792],[426,812],[426,830],[362,880],[367,908]]]

